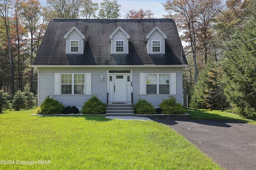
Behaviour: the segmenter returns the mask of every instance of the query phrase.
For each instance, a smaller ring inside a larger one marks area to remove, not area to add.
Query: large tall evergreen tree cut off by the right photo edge
[[[256,12],[255,12],[256,13]],[[256,19],[232,36],[223,68],[228,81],[225,94],[239,115],[256,119]]]

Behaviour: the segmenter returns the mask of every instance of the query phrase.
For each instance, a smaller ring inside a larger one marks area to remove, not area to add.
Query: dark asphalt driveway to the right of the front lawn
[[[238,121],[154,119],[182,134],[226,170],[256,170],[256,126]]]

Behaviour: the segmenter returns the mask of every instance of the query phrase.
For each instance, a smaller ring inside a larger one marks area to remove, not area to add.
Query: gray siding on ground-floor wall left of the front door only
[[[53,97],[54,99],[62,102],[65,106],[76,106],[81,108],[92,95],[97,95],[97,97],[106,103],[107,98],[107,71],[101,68],[39,68],[40,74],[40,85],[38,89],[39,99],[38,104],[42,104],[47,96]],[[92,95],[85,94],[61,94],[54,95],[54,73],[92,73]],[[103,81],[100,80],[100,75],[104,76]]]

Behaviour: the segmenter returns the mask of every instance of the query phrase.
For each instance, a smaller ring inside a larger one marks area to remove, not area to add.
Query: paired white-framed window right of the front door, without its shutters
[[[170,74],[146,74],[146,94],[170,94]]]

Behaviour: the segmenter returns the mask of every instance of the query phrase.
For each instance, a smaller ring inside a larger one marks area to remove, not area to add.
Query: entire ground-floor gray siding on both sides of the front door
[[[92,95],[104,103],[107,100],[108,92],[108,74],[107,70],[132,70],[132,90],[134,95],[134,104],[138,100],[145,99],[152,103],[156,108],[162,102],[163,98],[168,98],[169,94],[146,94],[140,95],[140,72],[145,73],[172,73],[176,72],[176,98],[178,103],[182,104],[182,68],[38,68],[38,104],[42,104],[47,96],[53,97],[62,102],[65,106],[76,106],[79,109],[84,105]],[[54,73],[91,73],[91,95],[54,95]],[[103,81],[100,80],[103,75]],[[127,94],[129,95],[129,94]]]

